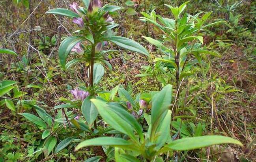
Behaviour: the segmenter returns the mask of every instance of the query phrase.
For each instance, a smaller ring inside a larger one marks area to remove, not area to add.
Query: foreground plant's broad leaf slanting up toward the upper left
[[[111,127],[127,134],[132,139],[136,139],[135,135],[133,134],[133,128],[123,120],[115,111],[110,108],[110,105],[106,104],[101,100],[91,99],[93,104],[96,106],[99,114],[101,117],[106,121]]]

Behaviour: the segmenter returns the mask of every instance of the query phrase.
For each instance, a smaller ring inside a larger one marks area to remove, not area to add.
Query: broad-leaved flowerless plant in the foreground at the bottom
[[[170,136],[171,110],[169,110],[172,98],[172,86],[165,86],[160,92],[154,92],[151,99],[151,115],[144,113],[147,121],[147,130],[136,121],[133,115],[125,111],[119,103],[105,102],[100,99],[91,99],[99,114],[112,128],[125,134],[127,137],[97,137],[79,143],[76,150],[88,146],[112,146],[115,147],[116,162],[141,162],[160,159],[159,155],[173,153],[173,151],[186,151],[198,149],[220,143],[241,142],[225,136],[198,136],[173,140]],[[127,104],[128,108],[131,107]],[[140,106],[145,106],[140,101]]]

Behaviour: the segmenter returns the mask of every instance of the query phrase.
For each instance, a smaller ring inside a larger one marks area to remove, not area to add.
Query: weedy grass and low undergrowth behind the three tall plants
[[[76,2],[82,5],[82,2]],[[157,39],[160,31],[138,20],[142,16],[140,12],[150,13],[155,9],[156,14],[170,17],[170,11],[164,4],[179,6],[185,0],[103,2],[122,7],[119,14],[114,16],[119,24],[114,32],[139,42],[155,55],[159,51],[142,36]],[[36,114],[31,108],[21,106],[21,100],[41,104],[52,115],[60,97],[71,98],[69,90],[79,83],[88,82],[84,73],[85,65],[76,64],[68,71],[62,71],[58,61],[58,47],[62,38],[71,35],[77,27],[70,19],[45,14],[52,8],[69,8],[71,3],[70,0],[21,0],[17,4],[16,0],[0,0],[0,48],[8,48],[19,54],[17,57],[0,55],[0,80],[17,81],[18,89],[22,92],[16,97],[0,96],[0,161],[78,161],[83,157],[98,155],[97,150],[86,150],[81,156],[70,147],[61,155],[34,159],[33,153],[42,132],[17,115],[22,112]],[[256,134],[256,1],[192,0],[185,12],[195,15],[209,11],[213,13],[207,23],[215,19],[227,22],[226,25],[209,28],[204,37],[204,45],[217,50],[221,57],[205,56],[203,65],[196,65],[192,75],[182,82],[182,96],[186,99],[183,104],[186,106],[178,115],[183,116],[187,123],[204,121],[206,131],[230,136],[247,146]],[[111,43],[108,47],[118,52],[109,53],[106,58],[113,70],[107,71],[100,83],[105,89],[122,84],[133,94],[159,91],[162,82],[157,75],[170,78],[168,83],[175,85],[174,78],[152,67],[144,56],[116,48]],[[5,99],[11,99],[15,105],[6,105]],[[16,112],[10,107],[14,107]],[[186,118],[186,115],[193,117]],[[243,156],[244,161],[256,161],[255,144],[249,150],[231,146],[225,151],[233,153],[227,156],[238,155]],[[197,157],[191,154],[183,160],[197,161]],[[228,160],[239,160],[234,157]],[[228,162],[224,158],[221,160]]]

